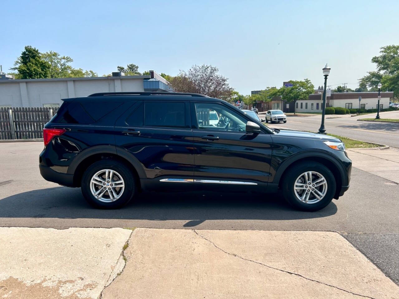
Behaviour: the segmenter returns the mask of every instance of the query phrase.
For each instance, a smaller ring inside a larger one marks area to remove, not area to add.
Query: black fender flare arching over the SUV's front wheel
[[[311,149],[311,150],[305,150],[305,151],[299,151],[298,153],[295,153],[294,155],[290,156],[288,159],[286,159],[281,165],[277,168],[276,175],[273,179],[273,183],[279,184],[280,179],[282,177],[282,174],[286,169],[292,165],[292,163],[295,163],[297,161],[300,161],[301,159],[304,158],[312,158],[312,157],[318,157],[318,158],[323,158],[331,163],[333,163],[338,171],[340,172],[341,178],[342,178],[342,184],[345,185],[348,182],[348,177],[344,168],[344,165],[338,160],[338,158],[334,157],[330,152],[328,151],[322,151],[322,150],[317,150],[317,149]]]

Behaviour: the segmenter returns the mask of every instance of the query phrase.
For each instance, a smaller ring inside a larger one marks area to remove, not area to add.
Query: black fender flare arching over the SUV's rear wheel
[[[144,172],[144,169],[140,161],[138,161],[138,159],[134,157],[132,153],[129,153],[126,149],[117,148],[116,146],[113,145],[93,146],[91,148],[84,149],[75,157],[75,159],[73,159],[73,161],[68,167],[67,173],[74,175],[77,167],[82,161],[84,161],[85,159],[87,159],[92,155],[96,155],[99,153],[109,153],[126,159],[127,161],[129,161],[130,164],[132,164],[134,169],[136,169],[139,178],[146,179],[146,174]]]

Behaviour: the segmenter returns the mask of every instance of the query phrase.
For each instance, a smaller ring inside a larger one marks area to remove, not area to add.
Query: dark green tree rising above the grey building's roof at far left
[[[20,79],[49,78],[51,65],[41,59],[38,49],[25,46],[21,56],[17,58],[11,69],[18,71]]]

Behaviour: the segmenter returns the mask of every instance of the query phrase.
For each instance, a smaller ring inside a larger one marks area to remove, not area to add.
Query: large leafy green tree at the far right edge
[[[370,91],[378,91],[378,83],[382,84],[381,90],[393,91],[395,98],[399,97],[399,45],[387,45],[380,48],[381,55],[371,58],[376,64],[376,71],[367,72],[360,79],[360,83],[370,88]]]

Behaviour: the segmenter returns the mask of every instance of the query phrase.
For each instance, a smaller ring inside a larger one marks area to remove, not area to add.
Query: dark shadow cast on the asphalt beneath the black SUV
[[[67,187],[38,189],[0,200],[0,218],[190,220],[184,225],[187,227],[205,220],[292,220],[336,212],[334,202],[317,212],[301,212],[293,210],[278,194],[253,193],[145,192],[119,210],[94,209],[80,189]]]

